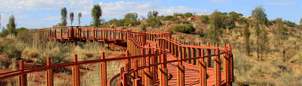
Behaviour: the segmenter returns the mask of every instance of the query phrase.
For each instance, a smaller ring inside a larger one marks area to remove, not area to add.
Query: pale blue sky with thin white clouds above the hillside
[[[196,12],[211,14],[215,9],[220,12],[238,12],[244,17],[251,16],[251,11],[257,6],[263,6],[268,19],[278,17],[299,24],[302,18],[302,1],[297,0],[155,0],[155,1],[96,1],[96,0],[0,0],[1,27],[8,23],[9,16],[15,16],[17,28],[48,28],[61,22],[60,11],[67,8],[68,16],[74,13],[73,26],[78,25],[78,13],[82,14],[80,25],[90,25],[91,9],[99,4],[105,21],[121,19],[127,13],[138,13],[139,17],[146,17],[150,10],[157,10],[159,15],[173,15],[173,13]],[[67,25],[71,26],[70,19]],[[2,28],[1,28],[2,29]]]

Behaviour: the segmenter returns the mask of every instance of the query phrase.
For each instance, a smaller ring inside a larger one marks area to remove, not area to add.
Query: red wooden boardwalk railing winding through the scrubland
[[[116,30],[95,27],[53,27],[40,29],[40,38],[56,41],[98,41],[103,43],[117,43],[117,40],[126,42],[125,57],[105,58],[101,52],[101,59],[78,61],[74,55],[74,62],[51,65],[51,57],[47,57],[47,66],[24,69],[24,62],[20,60],[18,71],[0,74],[0,81],[19,76],[19,85],[27,85],[27,74],[46,71],[46,85],[54,85],[53,69],[73,67],[73,85],[80,85],[80,65],[100,63],[100,84],[111,85],[120,77],[117,85],[168,85],[167,64],[177,62],[177,84],[185,85],[185,64],[189,63],[199,70],[200,85],[231,85],[233,82],[233,56],[231,45],[215,47],[195,45],[195,42],[177,40],[171,37],[170,32]],[[121,41],[118,41],[121,42]],[[205,55],[206,51],[206,55]],[[214,51],[214,52],[212,52]],[[170,56],[171,55],[171,56]],[[167,58],[174,58],[167,60]],[[214,57],[214,59],[211,59]],[[205,59],[206,58],[206,59]],[[107,80],[106,62],[125,60],[125,66],[120,73]],[[214,73],[208,73],[213,60]],[[221,62],[221,60],[223,62]],[[221,65],[222,64],[222,65]],[[221,67],[222,66],[222,67]],[[215,76],[214,82],[208,83],[208,76]],[[223,75],[223,76],[222,76]]]

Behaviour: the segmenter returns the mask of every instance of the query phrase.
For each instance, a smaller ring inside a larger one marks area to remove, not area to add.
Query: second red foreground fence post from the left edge
[[[46,57],[46,61],[47,61],[47,63],[46,63],[46,65],[47,66],[51,66],[51,58],[50,57]],[[53,70],[52,69],[49,69],[49,70],[47,70],[47,76],[48,76],[48,85],[49,86],[53,86],[54,84],[53,84]]]

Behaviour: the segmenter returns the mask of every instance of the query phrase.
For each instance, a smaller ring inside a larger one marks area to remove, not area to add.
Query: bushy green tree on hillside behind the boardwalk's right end
[[[213,43],[219,41],[219,37],[222,34],[222,16],[220,15],[221,13],[217,11],[217,9],[210,15],[210,28],[207,33],[207,37],[211,39]]]

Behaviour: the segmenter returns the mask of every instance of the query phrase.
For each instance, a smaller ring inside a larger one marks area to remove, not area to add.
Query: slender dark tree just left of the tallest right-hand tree
[[[250,31],[249,31],[249,24],[244,25],[244,30],[243,30],[243,36],[244,36],[244,49],[246,51],[247,55],[250,55]]]

